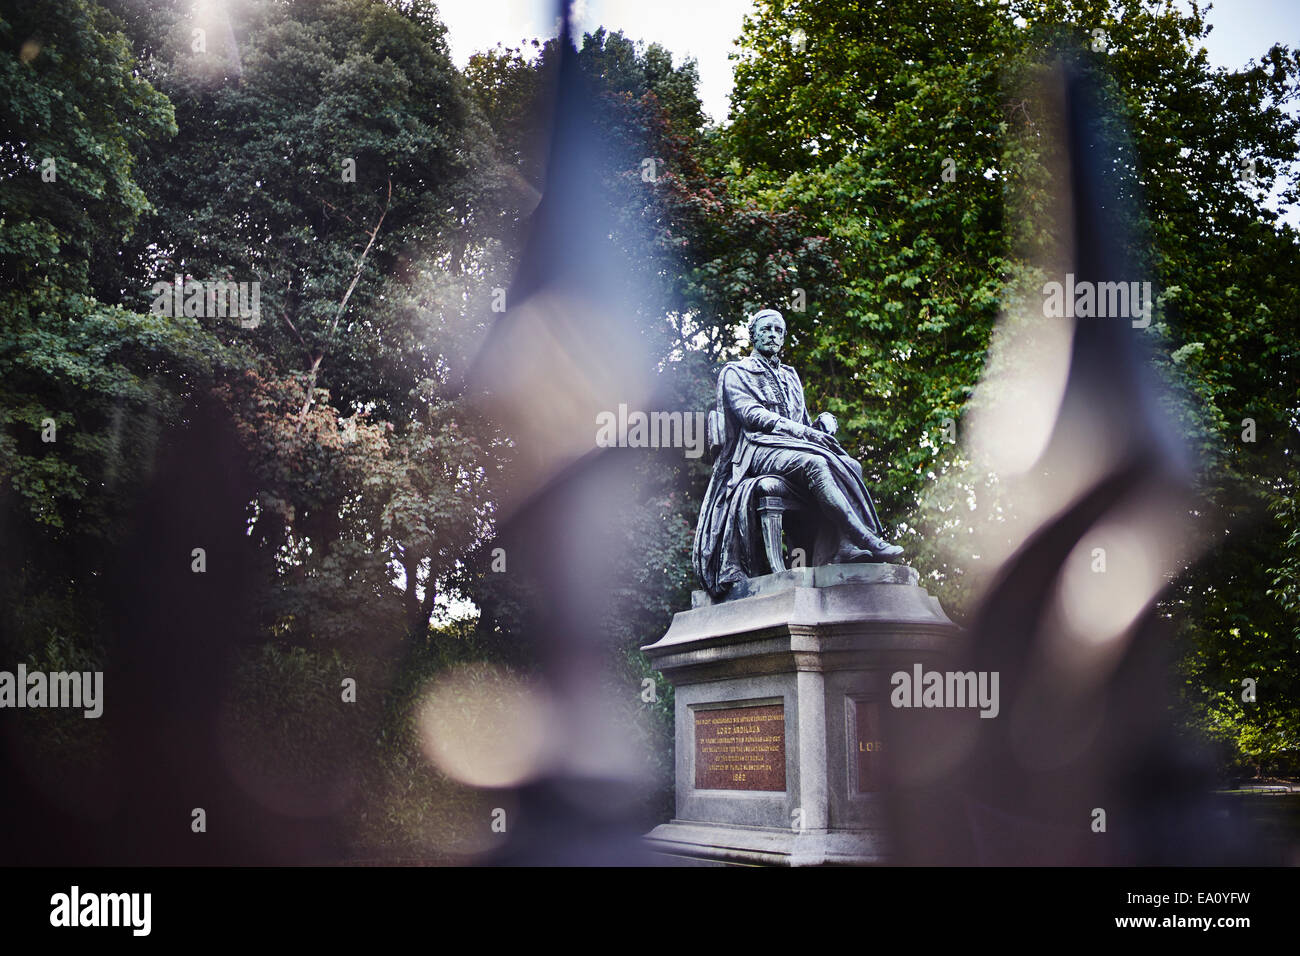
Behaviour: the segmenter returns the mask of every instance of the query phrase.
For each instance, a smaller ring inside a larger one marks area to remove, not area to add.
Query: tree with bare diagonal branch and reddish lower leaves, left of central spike
[[[337,641],[351,602],[398,602],[422,639],[489,514],[494,438],[434,394],[503,284],[508,183],[430,4],[226,16],[196,48],[187,10],[136,13],[178,146],[150,153],[156,211],[98,278],[138,307],[173,276],[259,284],[261,323],[214,333],[252,363],[220,394],[257,453],[266,623]]]

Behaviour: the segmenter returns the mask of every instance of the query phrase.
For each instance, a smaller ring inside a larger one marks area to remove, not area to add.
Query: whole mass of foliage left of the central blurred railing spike
[[[309,796],[387,732],[326,719],[341,662],[386,685],[490,520],[500,440],[437,394],[504,284],[512,199],[430,4],[234,0],[207,49],[188,5],[109,5],[0,20],[0,632],[29,661],[98,646],[155,449],[214,393],[263,559],[231,745]],[[260,282],[261,324],[156,313],[176,274]]]

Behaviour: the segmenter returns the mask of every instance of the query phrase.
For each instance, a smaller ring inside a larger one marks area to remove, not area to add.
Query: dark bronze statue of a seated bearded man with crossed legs
[[[809,420],[803,385],[780,362],[785,320],[776,310],[749,320],[754,351],[729,362],[718,376],[722,423],[714,473],[699,510],[692,559],[715,598],[748,591],[750,578],[768,567],[757,520],[758,496],[774,485],[803,505],[805,522],[792,532],[811,545],[811,564],[892,561],[902,549],[883,541],[884,531],[862,466],[835,438],[829,412]],[[780,481],[776,481],[779,479]],[[777,544],[779,549],[779,544]]]

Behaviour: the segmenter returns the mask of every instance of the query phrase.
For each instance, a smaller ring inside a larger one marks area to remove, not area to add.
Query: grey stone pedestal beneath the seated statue
[[[910,567],[832,564],[750,581],[645,653],[676,696],[673,862],[888,861],[878,787],[889,675],[939,663],[957,627]]]

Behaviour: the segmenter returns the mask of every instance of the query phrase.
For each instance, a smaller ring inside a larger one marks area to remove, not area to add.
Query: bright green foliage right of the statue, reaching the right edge
[[[1264,202],[1273,189],[1283,206],[1297,199],[1284,107],[1300,56],[1274,46],[1217,70],[1206,33],[1196,7],[1128,0],[764,3],[741,36],[719,155],[738,194],[833,239],[845,304],[792,324],[793,360],[961,614],[978,576],[965,541],[975,522],[1008,520],[1009,502],[940,425],[961,428],[994,317],[1041,281],[1030,264],[1060,241],[1052,120],[1034,79],[1061,44],[1083,51],[1108,135],[1131,140],[1115,176],[1145,212],[1134,226],[1160,295],[1150,339],[1205,462],[1205,501],[1188,518],[1210,557],[1166,602],[1187,701],[1193,722],[1262,754],[1300,739],[1288,704],[1300,698],[1288,585],[1300,369],[1279,326],[1300,304],[1297,235]],[[1240,440],[1245,418],[1256,444]],[[1244,676],[1268,683],[1271,704],[1232,704]]]

